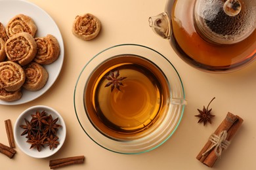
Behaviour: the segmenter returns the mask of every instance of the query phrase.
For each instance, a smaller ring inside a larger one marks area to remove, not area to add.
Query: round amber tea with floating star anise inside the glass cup
[[[138,139],[158,126],[168,109],[169,84],[146,58],[119,55],[91,73],[84,105],[93,126],[117,141]]]

